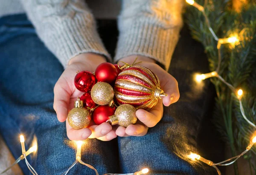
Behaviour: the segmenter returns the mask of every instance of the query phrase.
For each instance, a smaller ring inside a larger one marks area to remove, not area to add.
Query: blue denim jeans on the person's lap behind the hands
[[[38,38],[25,14],[0,18],[0,134],[15,158],[21,155],[21,133],[26,149],[37,142],[38,152],[28,156],[28,161],[39,175],[61,175],[76,159],[65,123],[58,122],[52,107],[53,87],[62,72],[63,67]],[[202,93],[206,93],[204,89]],[[160,123],[143,137],[119,137],[108,142],[87,139],[82,160],[100,175],[136,172],[144,167],[151,175],[199,174],[183,160],[195,150],[200,123],[187,103],[181,94],[180,102],[165,108]],[[19,165],[25,175],[29,174],[24,161]],[[69,174],[94,172],[77,164]]]

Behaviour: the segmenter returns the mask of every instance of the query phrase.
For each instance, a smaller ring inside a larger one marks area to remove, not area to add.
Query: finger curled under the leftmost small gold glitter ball
[[[92,131],[89,128],[73,129],[70,124],[66,121],[67,137],[72,141],[83,141],[87,139]]]

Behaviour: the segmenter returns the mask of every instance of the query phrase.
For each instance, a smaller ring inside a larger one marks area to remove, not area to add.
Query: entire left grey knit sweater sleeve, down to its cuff
[[[104,48],[93,14],[83,0],[21,0],[38,36],[66,68],[81,53],[110,55]]]

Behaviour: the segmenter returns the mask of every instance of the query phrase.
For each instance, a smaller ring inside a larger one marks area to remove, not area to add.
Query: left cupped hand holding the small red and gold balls
[[[84,70],[95,72],[96,67],[105,61],[104,57],[92,53],[81,54],[70,60],[69,66],[64,70],[54,87],[53,108],[60,122],[64,122],[67,119],[68,112],[74,107],[74,100],[84,94],[77,90],[74,85],[76,72]],[[70,140],[85,140],[89,136],[103,141],[116,138],[115,131],[112,130],[112,126],[108,123],[102,123],[97,126],[91,122],[89,128],[76,130],[66,121],[66,126],[67,136]]]

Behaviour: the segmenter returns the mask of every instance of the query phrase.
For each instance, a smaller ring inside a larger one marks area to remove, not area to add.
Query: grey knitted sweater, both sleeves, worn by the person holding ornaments
[[[109,2],[113,4],[105,11],[111,13],[116,4]],[[183,0],[123,0],[114,61],[144,55],[168,69],[182,26],[182,7]],[[111,59],[84,0],[0,0],[0,16],[25,12],[38,36],[64,67],[70,58],[86,52]]]

